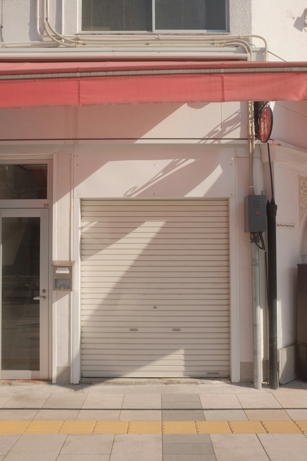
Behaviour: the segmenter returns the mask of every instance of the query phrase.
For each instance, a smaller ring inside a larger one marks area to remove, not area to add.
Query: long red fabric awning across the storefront
[[[0,107],[307,100],[306,62],[0,62]]]

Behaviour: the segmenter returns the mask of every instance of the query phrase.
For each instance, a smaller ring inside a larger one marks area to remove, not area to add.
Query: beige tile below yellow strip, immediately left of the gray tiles
[[[110,461],[123,460],[162,461],[162,436],[156,434],[116,435]]]

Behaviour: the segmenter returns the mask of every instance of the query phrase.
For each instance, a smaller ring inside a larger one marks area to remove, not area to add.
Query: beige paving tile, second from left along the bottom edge
[[[6,461],[55,461],[65,442],[66,435],[58,434],[23,434],[10,452]]]

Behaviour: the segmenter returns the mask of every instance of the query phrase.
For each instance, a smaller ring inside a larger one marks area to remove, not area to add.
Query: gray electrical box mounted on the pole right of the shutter
[[[266,195],[244,197],[245,232],[266,231]]]

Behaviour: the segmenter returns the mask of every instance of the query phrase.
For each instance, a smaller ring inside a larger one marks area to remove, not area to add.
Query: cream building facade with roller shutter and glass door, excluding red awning
[[[305,6],[4,0],[0,61],[307,61]],[[307,257],[307,102],[269,102],[286,382],[295,378],[296,266]],[[248,102],[29,101],[0,118],[0,378],[251,381]],[[267,152],[256,139],[254,193],[271,199]],[[261,251],[264,380],[265,266]]]

